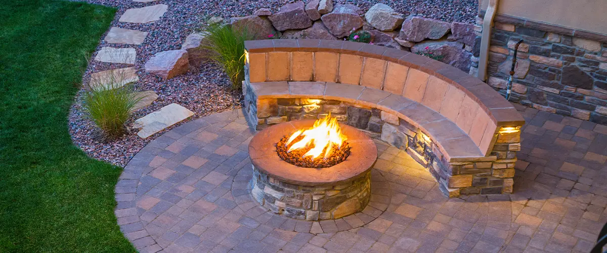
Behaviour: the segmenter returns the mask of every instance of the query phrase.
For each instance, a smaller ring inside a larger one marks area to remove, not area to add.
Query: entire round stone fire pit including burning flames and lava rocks
[[[367,206],[377,147],[361,130],[330,118],[280,123],[253,137],[249,155],[251,194],[276,214],[327,220]]]

